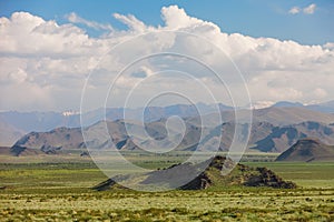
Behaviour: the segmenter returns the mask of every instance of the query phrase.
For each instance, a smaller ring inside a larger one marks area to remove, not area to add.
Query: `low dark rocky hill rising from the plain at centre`
[[[207,168],[203,172],[197,172],[198,169]],[[183,163],[176,164],[167,169],[153,171],[140,175],[116,175],[100,184],[94,186],[94,190],[104,191],[108,189],[126,189],[120,184],[132,184],[136,186],[150,185],[174,188],[176,184],[180,190],[204,190],[209,188],[226,189],[228,186],[268,186],[276,189],[294,189],[296,184],[284,181],[273,171],[266,168],[250,168],[244,164],[237,164],[234,170],[226,174],[222,174],[222,169],[226,165],[234,165],[232,160],[224,157],[215,157],[208,161],[193,164]],[[196,176],[194,176],[197,173]],[[189,180],[187,176],[193,176]],[[183,184],[183,181],[188,181]],[[132,188],[132,186],[131,186]]]

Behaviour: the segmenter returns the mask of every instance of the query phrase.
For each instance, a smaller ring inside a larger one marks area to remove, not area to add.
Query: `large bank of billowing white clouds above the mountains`
[[[315,9],[316,6],[311,4],[304,9],[293,8],[291,13],[303,11],[312,14]],[[177,6],[161,9],[164,24],[158,27],[145,24],[132,14],[114,13],[114,17],[125,23],[128,30],[115,30],[110,24],[88,21],[76,13],[69,14],[69,23],[61,26],[28,12],[14,12],[10,18],[0,18],[0,110],[78,110],[85,79],[95,70],[104,54],[138,34],[167,30],[200,36],[224,50],[243,72],[255,103],[279,100],[327,101],[334,98],[334,48],[331,42],[325,46],[303,46],[295,41],[253,38],[242,33],[227,34],[215,23],[190,17]],[[91,38],[77,23],[106,30],[107,33]],[[115,77],[126,65],[122,61],[126,54],[135,57],[157,49],[177,47],[185,53],[207,56],[207,61],[213,65],[220,62],[219,58],[210,54],[209,49],[203,49],[196,42],[181,41],[173,34],[160,36],[159,39],[143,39],[141,43],[148,47],[140,48],[140,51],[131,46],[111,58],[112,62],[101,68],[108,70],[108,74],[102,71],[95,73],[94,84],[89,87],[95,89],[97,97],[99,84],[109,81],[110,77]],[[151,78],[163,65],[159,61],[140,64],[135,70],[137,74],[119,81],[119,94],[134,87],[138,79]],[[177,65],[181,67],[181,61]],[[214,79],[197,72],[194,69],[194,75],[199,81],[209,84],[217,92],[222,90]],[[183,85],[180,82],[167,83],[170,90]],[[148,81],[147,88],[140,93],[149,94],[149,90],[156,88],[156,84],[155,81]],[[164,82],[159,84],[163,85]],[[236,88],[238,84],[242,82],[235,82]],[[202,101],[200,94],[194,91],[194,97],[198,98],[196,102]],[[120,103],[112,104],[118,105]]]

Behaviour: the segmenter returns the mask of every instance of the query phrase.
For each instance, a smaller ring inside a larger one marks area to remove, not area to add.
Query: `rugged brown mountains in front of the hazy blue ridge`
[[[216,128],[208,129],[198,127],[193,121],[193,119],[191,121],[185,120],[185,137],[176,148],[177,150],[194,151],[195,149],[213,150],[215,148],[218,148],[220,151],[228,150],[234,137],[234,122],[225,122]],[[166,120],[149,122],[145,124],[145,130],[156,141],[160,141],[167,137],[165,124]],[[105,127],[108,129],[108,134],[106,134]],[[128,135],[127,128],[138,132],[143,131],[140,123],[136,121],[102,121],[85,128],[86,132],[92,134],[91,138],[86,138],[86,143],[89,148],[96,150],[109,148],[140,150],[141,147],[155,147],[155,143],[150,140],[141,141],[140,133],[138,134],[140,138]],[[171,130],[174,131],[175,129]],[[203,140],[200,140],[202,132],[206,134]],[[175,141],[178,137],[181,135],[175,134]],[[299,139],[308,137],[318,138],[327,144],[334,144],[334,125],[312,121],[281,127],[269,122],[253,122],[248,147],[252,150],[262,152],[284,152]],[[28,133],[18,140],[12,149],[35,149],[45,153],[57,153],[58,151],[70,149],[85,151],[86,143],[84,142],[80,128],[58,128],[49,132]],[[140,145],[138,147],[137,144]],[[163,149],[164,145],[167,149],[168,144],[163,144]]]

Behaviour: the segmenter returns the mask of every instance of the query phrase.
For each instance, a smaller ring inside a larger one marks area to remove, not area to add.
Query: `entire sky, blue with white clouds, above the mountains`
[[[333,21],[332,0],[0,1],[0,110],[330,101]]]

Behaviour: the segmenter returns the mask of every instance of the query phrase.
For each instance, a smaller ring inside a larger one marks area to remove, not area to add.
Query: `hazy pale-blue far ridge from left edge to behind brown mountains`
[[[233,110],[232,107],[219,104],[198,103],[200,112],[208,114],[217,111]],[[143,108],[122,109],[107,108],[97,109],[82,114],[84,125],[88,127],[105,118],[109,121],[124,119],[124,113],[131,120],[145,120],[146,122],[166,119],[171,115],[189,118],[198,115],[195,105],[175,104],[168,107],[148,107],[143,115]],[[106,114],[106,117],[105,117]],[[46,132],[56,128],[79,128],[81,127],[80,114],[71,112],[0,112],[0,145],[12,145],[20,137],[28,132]]]

